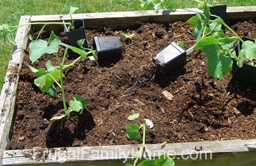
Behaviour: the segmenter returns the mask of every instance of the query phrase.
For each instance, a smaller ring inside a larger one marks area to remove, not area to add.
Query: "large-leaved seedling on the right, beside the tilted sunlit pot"
[[[211,20],[210,17],[215,17],[216,19]],[[236,61],[239,67],[242,67],[243,60],[256,59],[255,42],[243,41],[219,16],[212,15],[205,0],[203,13],[198,13],[196,16],[191,17],[187,20],[187,23],[195,28],[197,43],[193,47],[205,53],[208,61],[208,73],[214,79],[222,79],[230,72],[233,60]],[[228,29],[234,37],[227,37],[221,29],[222,26]],[[242,50],[238,56],[231,49],[237,39],[242,42]]]

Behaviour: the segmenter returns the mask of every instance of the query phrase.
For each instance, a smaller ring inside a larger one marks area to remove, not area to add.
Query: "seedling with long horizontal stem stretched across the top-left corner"
[[[39,31],[39,34],[37,35],[36,39],[37,40],[42,33],[42,31],[45,29],[47,25],[68,25],[68,30],[74,29],[74,21],[72,18],[72,14],[77,10],[78,8],[71,7],[69,11],[69,15],[72,19],[72,22],[30,22],[30,23],[25,23],[23,25],[17,25],[17,26],[9,26],[6,24],[0,25],[0,37],[4,38],[4,41],[8,40],[10,43],[15,44],[14,41],[14,36],[15,32],[19,27],[26,26],[26,25],[44,25]],[[31,38],[31,37],[30,37]]]

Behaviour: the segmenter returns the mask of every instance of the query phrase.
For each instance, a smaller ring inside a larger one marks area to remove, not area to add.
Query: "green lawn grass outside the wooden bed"
[[[167,0],[168,8],[195,8],[191,0]],[[256,6],[255,0],[219,1],[228,6]],[[70,6],[79,13],[140,10],[139,0],[0,0],[0,25],[16,25],[21,15],[68,13]],[[2,89],[12,45],[0,39],[0,89]],[[1,91],[1,90],[0,90]]]

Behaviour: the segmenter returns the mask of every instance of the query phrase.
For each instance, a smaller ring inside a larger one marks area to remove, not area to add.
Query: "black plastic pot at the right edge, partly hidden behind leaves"
[[[242,37],[244,41],[250,40],[254,42],[253,39]],[[242,42],[238,42],[234,50],[236,51],[236,54],[239,55],[239,52],[242,48]],[[243,67],[238,67],[237,61],[234,60],[233,62],[233,69],[232,69],[233,79],[239,80],[240,82],[243,82],[246,85],[256,86],[256,67],[252,66],[247,63],[243,63]]]

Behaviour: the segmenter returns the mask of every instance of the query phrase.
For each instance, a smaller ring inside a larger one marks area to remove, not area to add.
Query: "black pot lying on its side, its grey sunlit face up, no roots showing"
[[[108,37],[94,37],[93,49],[98,52],[98,59],[105,60],[111,58],[121,57],[123,51],[123,45],[120,37],[108,36]]]

